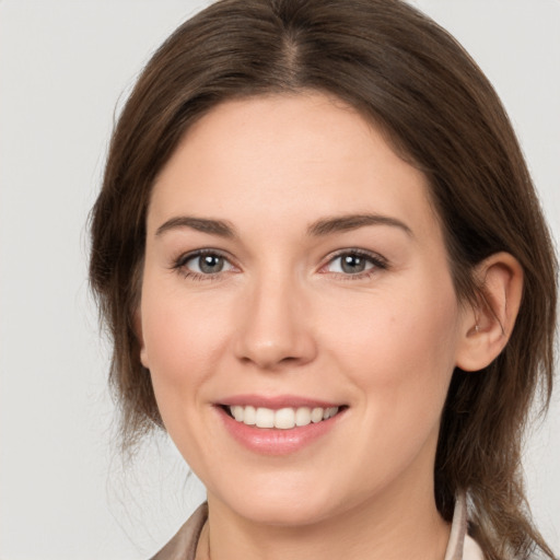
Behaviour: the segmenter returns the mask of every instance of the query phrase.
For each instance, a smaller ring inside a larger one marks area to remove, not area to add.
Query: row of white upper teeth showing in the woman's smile
[[[332,418],[338,412],[338,407],[330,408],[255,408],[250,406],[233,406],[230,412],[237,422],[257,428],[277,428],[278,430],[291,430],[295,427],[322,422]]]

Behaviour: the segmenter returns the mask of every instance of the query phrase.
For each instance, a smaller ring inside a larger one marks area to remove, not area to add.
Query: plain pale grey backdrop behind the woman
[[[88,212],[115,112],[200,0],[0,0],[0,559],[131,560],[203,499],[165,436],[124,467],[107,343],[88,291]],[[415,2],[495,85],[560,238],[560,2]],[[560,404],[526,450],[560,553]]]

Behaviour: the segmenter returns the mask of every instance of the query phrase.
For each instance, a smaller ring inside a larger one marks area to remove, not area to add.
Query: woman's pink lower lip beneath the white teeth
[[[300,425],[290,430],[276,428],[256,428],[237,422],[221,407],[215,407],[225,429],[244,447],[262,455],[288,455],[303,450],[323,435],[329,433],[338,423],[345,410],[328,420]]]

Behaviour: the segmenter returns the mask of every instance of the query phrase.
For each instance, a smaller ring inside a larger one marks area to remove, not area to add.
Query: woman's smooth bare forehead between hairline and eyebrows
[[[371,121],[319,93],[230,101],[205,115],[158,177],[149,229],[177,212],[293,224],[376,212],[417,228],[434,218],[424,175]]]

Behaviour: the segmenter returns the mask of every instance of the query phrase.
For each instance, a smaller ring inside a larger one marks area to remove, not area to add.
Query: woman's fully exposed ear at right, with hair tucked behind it
[[[456,365],[478,371],[503,350],[517,317],[523,295],[523,269],[509,253],[491,255],[477,266],[478,303],[465,308]]]

